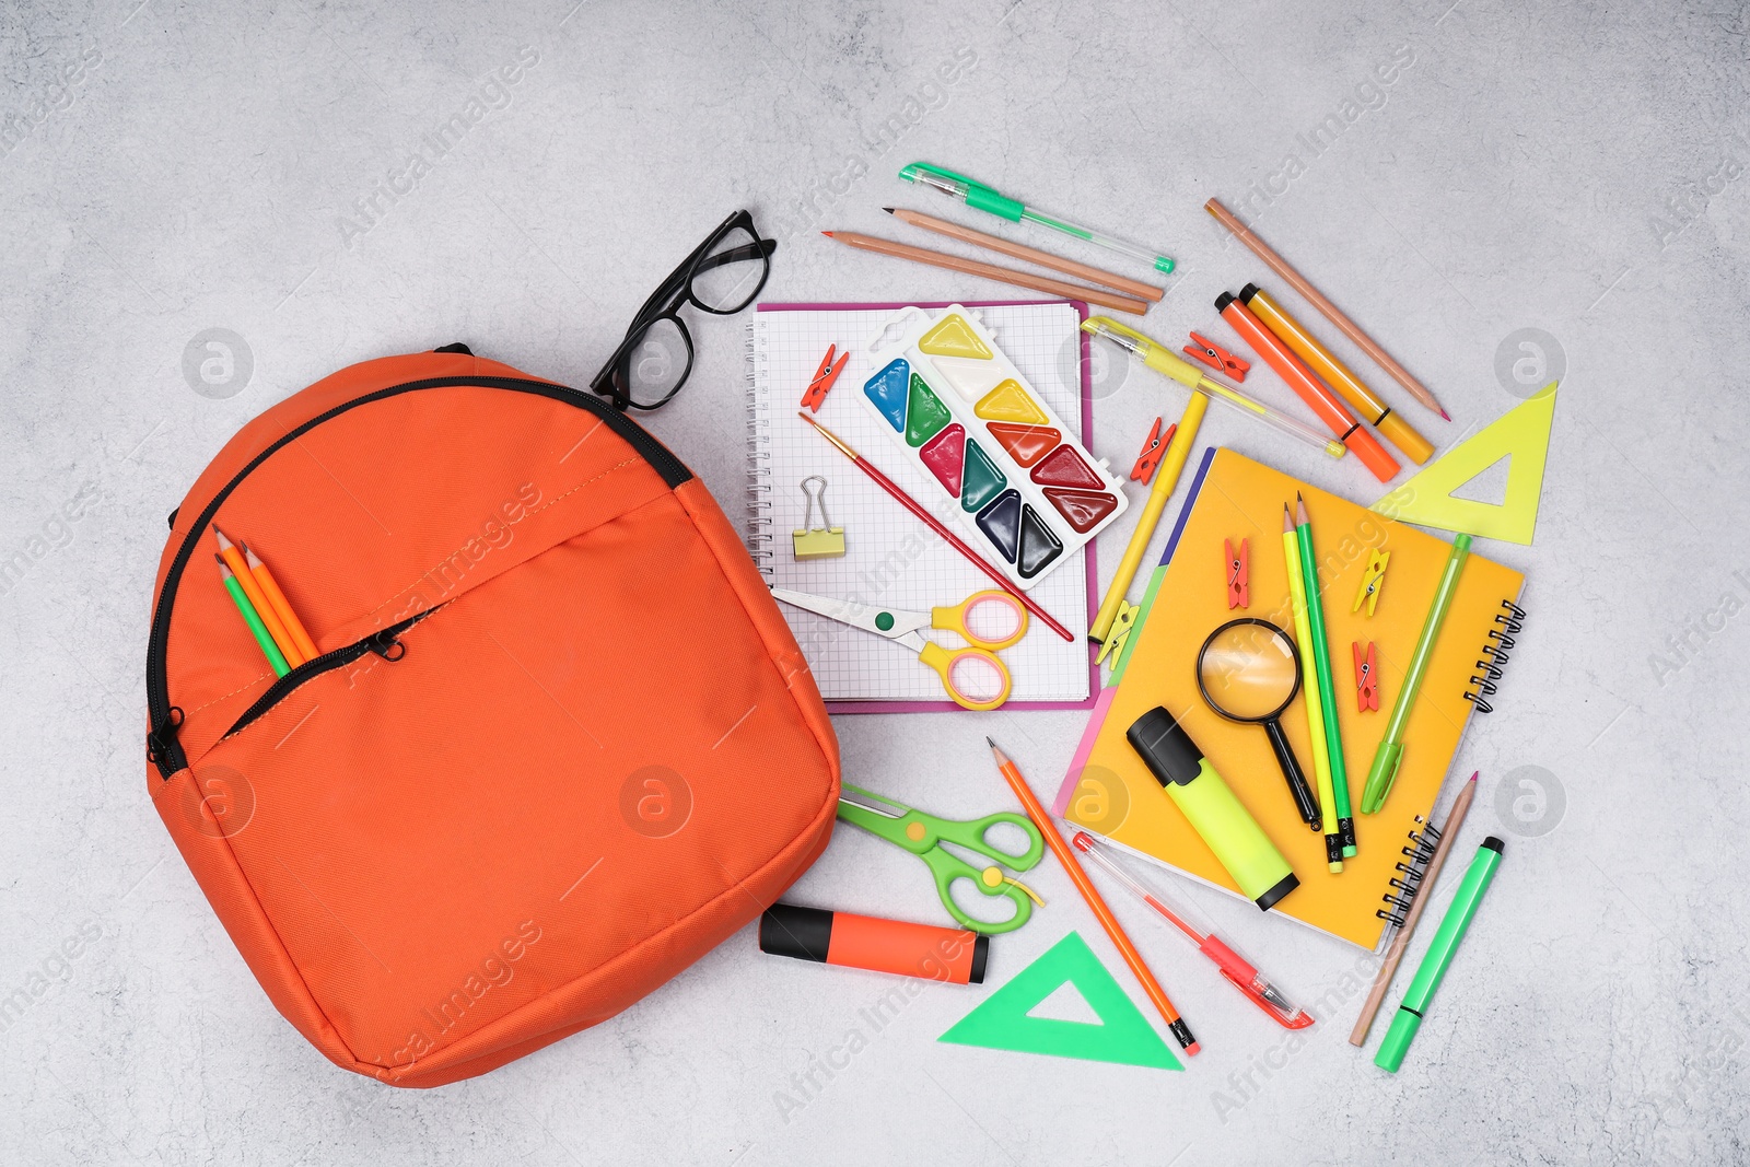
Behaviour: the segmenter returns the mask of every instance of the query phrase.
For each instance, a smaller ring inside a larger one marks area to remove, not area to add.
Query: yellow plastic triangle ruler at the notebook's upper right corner
[[[1530,544],[1536,530],[1538,500],[1544,497],[1544,464],[1549,458],[1549,430],[1554,418],[1556,381],[1550,381],[1535,397],[1514,406],[1430,462],[1372,509],[1419,527]],[[1507,493],[1500,506],[1452,497],[1454,490],[1502,458],[1508,462]]]

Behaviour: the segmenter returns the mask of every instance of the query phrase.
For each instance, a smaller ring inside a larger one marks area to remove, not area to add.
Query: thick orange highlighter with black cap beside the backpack
[[[896,976],[982,985],[990,938],[964,927],[775,903],[760,917],[760,952]]]

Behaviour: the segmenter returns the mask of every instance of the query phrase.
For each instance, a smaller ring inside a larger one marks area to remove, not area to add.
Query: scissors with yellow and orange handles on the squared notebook
[[[933,607],[928,612],[903,612],[854,600],[830,600],[789,588],[772,588],[772,597],[842,625],[898,640],[917,653],[917,660],[936,670],[936,675],[942,677],[942,688],[961,709],[996,709],[1008,700],[1013,677],[1008,674],[1008,665],[998,660],[996,651],[1006,649],[1027,635],[1027,609],[1020,605],[1020,600],[996,588],[976,591],[952,607]],[[992,632],[975,632],[973,625]],[[959,633],[968,647],[945,649],[934,640],[926,640],[919,632],[922,628]]]

